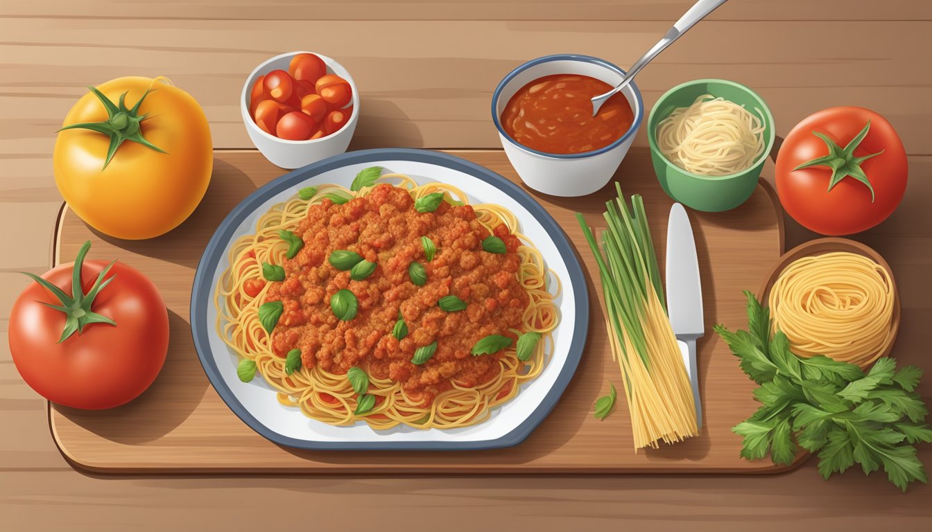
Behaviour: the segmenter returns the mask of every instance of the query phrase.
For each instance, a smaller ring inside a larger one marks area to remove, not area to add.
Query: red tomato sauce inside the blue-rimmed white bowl
[[[588,75],[539,77],[514,93],[501,112],[501,127],[515,142],[548,154],[579,154],[624,136],[634,112],[619,92],[592,116],[591,98],[611,86]]]

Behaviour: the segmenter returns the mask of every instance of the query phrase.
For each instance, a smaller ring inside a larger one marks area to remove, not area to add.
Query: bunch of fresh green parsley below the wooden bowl
[[[786,334],[770,334],[769,310],[745,295],[747,331],[715,327],[760,385],[754,399],[761,407],[732,429],[744,438],[741,457],[769,454],[775,464],[789,464],[802,447],[818,455],[825,479],[857,463],[865,474],[883,467],[903,491],[913,481],[928,482],[914,446],[932,442],[928,410],[915,391],[922,370],[897,370],[897,361],[884,358],[865,374],[855,364],[798,357]]]

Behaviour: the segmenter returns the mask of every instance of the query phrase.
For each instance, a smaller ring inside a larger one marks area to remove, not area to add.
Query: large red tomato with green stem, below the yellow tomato
[[[101,275],[108,263],[84,261],[89,247],[84,244],[75,263],[42,276],[61,288],[64,300],[39,282],[22,291],[10,313],[9,348],[23,380],[40,395],[98,410],[129,402],[156,379],[168,353],[169,316],[151,280],[119,262]],[[72,299],[75,267],[80,294]],[[99,280],[109,284],[94,294]]]

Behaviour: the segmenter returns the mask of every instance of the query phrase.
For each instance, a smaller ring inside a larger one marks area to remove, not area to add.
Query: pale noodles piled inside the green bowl
[[[700,175],[731,175],[763,155],[761,110],[704,94],[657,125],[657,146],[670,162]]]

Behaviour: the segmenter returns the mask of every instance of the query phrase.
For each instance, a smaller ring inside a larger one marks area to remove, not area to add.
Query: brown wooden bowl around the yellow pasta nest
[[[761,305],[767,305],[770,291],[774,287],[774,282],[776,282],[776,279],[780,277],[780,274],[783,273],[783,270],[789,266],[790,263],[802,257],[823,255],[830,252],[851,252],[863,255],[879,264],[884,268],[884,271],[886,271],[886,275],[889,277],[890,284],[893,287],[893,316],[890,318],[890,330],[892,334],[890,334],[890,342],[887,344],[884,352],[881,353],[881,356],[889,356],[890,352],[893,350],[893,345],[897,343],[897,333],[899,331],[900,308],[897,280],[893,277],[893,270],[890,269],[890,265],[886,263],[884,257],[881,256],[880,253],[875,252],[869,246],[856,242],[855,240],[836,238],[810,240],[783,253],[783,256],[776,261],[770,275],[767,276],[766,280],[763,282],[763,286],[761,286],[761,292],[759,293]]]

